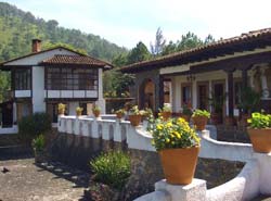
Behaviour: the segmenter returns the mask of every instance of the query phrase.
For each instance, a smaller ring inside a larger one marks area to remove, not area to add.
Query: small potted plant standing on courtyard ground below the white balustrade
[[[35,163],[44,162],[44,148],[46,148],[44,136],[39,135],[37,138],[33,139],[31,146],[35,154]]]

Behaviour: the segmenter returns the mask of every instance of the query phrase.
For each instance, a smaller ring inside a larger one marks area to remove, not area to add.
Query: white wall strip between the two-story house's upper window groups
[[[46,112],[44,67],[33,66],[33,112]]]

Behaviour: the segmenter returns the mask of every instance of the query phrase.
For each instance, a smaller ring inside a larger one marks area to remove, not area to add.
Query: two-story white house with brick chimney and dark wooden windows
[[[57,121],[57,104],[67,105],[75,115],[77,106],[89,114],[93,103],[105,111],[102,73],[113,66],[64,47],[41,51],[41,40],[33,40],[33,52],[1,63],[1,71],[11,72],[11,101],[1,104],[2,125],[17,129],[23,116],[47,112]],[[4,131],[3,131],[4,133]]]

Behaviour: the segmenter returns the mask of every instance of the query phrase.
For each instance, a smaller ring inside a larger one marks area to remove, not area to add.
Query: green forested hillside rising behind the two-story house
[[[54,20],[44,21],[30,12],[0,2],[0,62],[29,53],[34,38],[42,40],[43,49],[56,43],[67,43],[109,62],[127,51],[100,36],[61,27]]]

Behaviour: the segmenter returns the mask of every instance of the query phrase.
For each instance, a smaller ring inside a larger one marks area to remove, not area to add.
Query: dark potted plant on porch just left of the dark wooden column
[[[217,125],[222,123],[222,114],[223,114],[223,105],[225,101],[227,95],[216,96],[214,92],[211,93],[211,98],[209,98],[209,104],[212,108],[211,111],[211,123]]]

